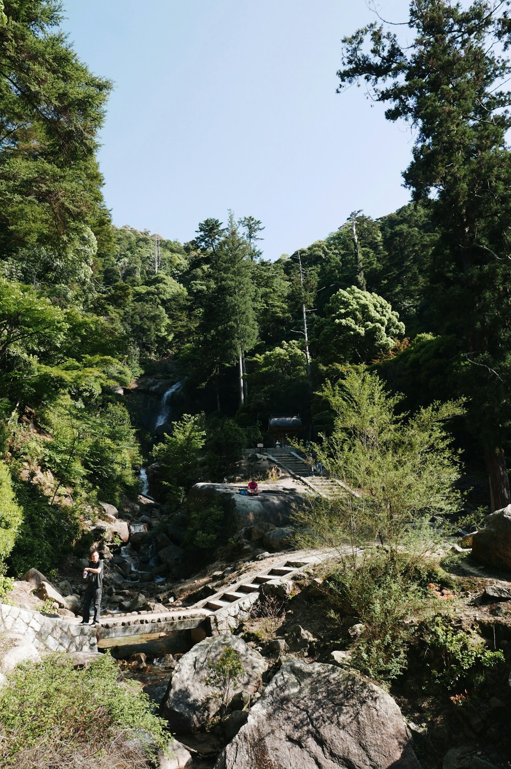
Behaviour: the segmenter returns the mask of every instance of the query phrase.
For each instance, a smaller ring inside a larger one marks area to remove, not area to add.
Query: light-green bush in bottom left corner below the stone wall
[[[98,759],[119,731],[132,738],[150,732],[150,754],[165,747],[169,735],[151,714],[148,696],[126,681],[119,684],[118,676],[109,654],[84,670],[58,654],[18,665],[0,691],[2,766],[15,767],[19,754],[35,745],[44,752],[48,741],[60,756],[81,751]]]

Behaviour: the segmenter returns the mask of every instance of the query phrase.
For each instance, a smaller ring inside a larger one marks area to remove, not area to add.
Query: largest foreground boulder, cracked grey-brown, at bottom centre
[[[215,769],[420,769],[401,711],[353,671],[286,662]]]

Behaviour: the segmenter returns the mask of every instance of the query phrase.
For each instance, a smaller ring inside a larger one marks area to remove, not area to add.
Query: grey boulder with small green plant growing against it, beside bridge
[[[196,644],[178,662],[168,696],[161,706],[161,715],[168,720],[171,731],[181,733],[197,731],[221,709],[221,697],[216,687],[206,684],[211,674],[208,663],[216,663],[227,648],[240,655],[244,676],[231,686],[229,700],[240,692],[253,694],[262,685],[261,676],[267,663],[238,636],[224,634],[205,638]]]

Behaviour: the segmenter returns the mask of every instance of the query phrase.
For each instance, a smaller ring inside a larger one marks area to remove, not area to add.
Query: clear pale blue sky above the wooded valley
[[[406,21],[407,0],[377,0]],[[252,215],[264,257],[410,199],[413,135],[363,88],[336,94],[365,0],[64,0],[78,56],[114,81],[99,154],[115,225],[181,242]],[[403,28],[401,28],[403,29]],[[405,28],[406,30],[406,28]]]

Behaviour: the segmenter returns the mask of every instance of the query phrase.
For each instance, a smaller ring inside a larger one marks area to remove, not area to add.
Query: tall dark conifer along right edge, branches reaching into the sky
[[[338,72],[340,90],[362,78],[372,98],[390,105],[387,119],[416,128],[403,177],[413,200],[430,206],[439,231],[432,301],[439,330],[460,339],[466,358],[470,424],[483,441],[493,507],[511,501],[504,454],[511,418],[511,95],[503,88],[511,65],[499,53],[511,44],[509,5],[414,0],[412,45],[373,22],[344,38]]]

